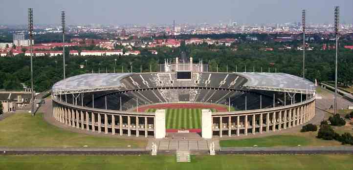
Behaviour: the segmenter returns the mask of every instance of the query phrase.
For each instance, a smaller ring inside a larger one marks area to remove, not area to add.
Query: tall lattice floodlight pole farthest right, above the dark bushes
[[[339,39],[339,6],[334,7],[334,32],[336,37],[336,61],[334,76],[334,114],[337,113],[337,57],[338,57],[338,39]]]

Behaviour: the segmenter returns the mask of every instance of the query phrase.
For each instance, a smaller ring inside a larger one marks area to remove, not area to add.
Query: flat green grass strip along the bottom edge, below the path
[[[4,170],[352,170],[353,155],[29,155],[0,156]]]

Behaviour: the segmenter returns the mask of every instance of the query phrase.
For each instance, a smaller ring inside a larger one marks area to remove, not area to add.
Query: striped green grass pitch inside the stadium
[[[154,112],[156,109],[147,109]],[[211,111],[216,111],[211,109]],[[167,108],[165,115],[167,129],[199,129],[201,128],[201,108]]]

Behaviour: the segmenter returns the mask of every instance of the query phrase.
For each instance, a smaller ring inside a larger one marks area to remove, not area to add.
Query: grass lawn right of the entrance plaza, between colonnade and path
[[[337,141],[316,138],[317,132],[294,132],[285,135],[273,135],[240,140],[222,140],[221,147],[295,147],[301,146],[341,146]]]

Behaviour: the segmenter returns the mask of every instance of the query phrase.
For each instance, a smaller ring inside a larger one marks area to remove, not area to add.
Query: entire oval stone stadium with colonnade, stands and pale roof
[[[70,127],[121,136],[239,137],[308,122],[315,116],[314,89],[289,74],[210,72],[207,64],[176,58],[159,72],[92,73],[57,82],[53,117]]]

